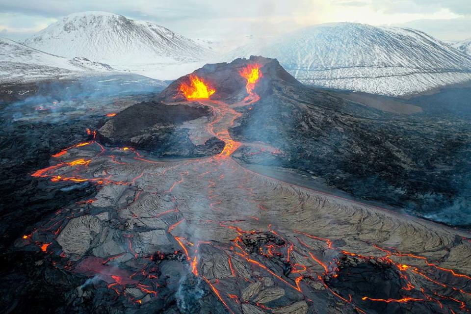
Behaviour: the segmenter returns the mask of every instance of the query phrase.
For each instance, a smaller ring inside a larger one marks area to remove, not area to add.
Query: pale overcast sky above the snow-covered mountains
[[[471,37],[471,0],[0,0],[0,36],[21,40],[81,11],[156,22],[191,38],[238,40],[328,22],[407,26],[450,41]]]

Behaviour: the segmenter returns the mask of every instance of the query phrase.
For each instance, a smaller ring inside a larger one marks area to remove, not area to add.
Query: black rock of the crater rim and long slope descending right
[[[445,223],[471,224],[469,216],[462,219],[466,212],[460,213],[471,201],[466,192],[471,186],[469,120],[417,110],[409,115],[393,108],[378,110],[371,103],[384,102],[384,97],[352,101],[346,94],[308,87],[276,59],[260,56],[207,64],[193,74],[216,89],[211,100],[232,104],[247,95],[239,70],[255,62],[262,66],[263,77],[255,87],[261,99],[251,110],[236,109],[243,115],[229,132],[237,141],[263,142],[282,154],[267,157],[242,146],[233,157],[297,169],[355,197]],[[177,79],[158,98],[183,100],[179,86],[185,80],[188,76]]]

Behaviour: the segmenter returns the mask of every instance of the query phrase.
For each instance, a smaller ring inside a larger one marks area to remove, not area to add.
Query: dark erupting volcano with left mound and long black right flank
[[[261,78],[250,87],[250,94],[241,71],[255,64]],[[207,82],[214,93],[188,100],[181,87],[194,77]],[[315,178],[318,187],[340,189],[421,215],[452,206],[457,196],[454,186],[469,173],[462,157],[471,139],[458,135],[466,130],[466,122],[451,119],[449,128],[437,129],[433,121],[441,117],[420,115],[420,107],[392,102],[385,112],[374,107],[377,102],[386,100],[352,101],[344,94],[305,86],[276,59],[253,56],[208,64],[175,80],[156,97],[161,109],[150,110],[142,121],[166,116],[180,106],[190,112],[195,105],[206,108],[205,117],[175,120],[171,126],[158,119],[131,123],[132,117],[141,119],[140,104],[109,120],[99,134],[114,144],[175,157],[210,156],[232,140],[241,144],[233,157],[254,168],[294,169]],[[450,141],[457,145],[451,148]],[[435,160],[432,171],[424,159]],[[454,170],[447,168],[450,165]],[[462,171],[463,176],[455,175]]]

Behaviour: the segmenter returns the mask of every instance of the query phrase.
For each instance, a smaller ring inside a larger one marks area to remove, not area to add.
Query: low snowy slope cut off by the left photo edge
[[[97,71],[113,71],[113,68],[84,57],[69,59],[42,52],[0,37],[0,82],[57,78]]]

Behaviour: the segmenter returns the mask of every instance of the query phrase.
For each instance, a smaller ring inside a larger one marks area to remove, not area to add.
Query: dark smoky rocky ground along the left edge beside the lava
[[[63,304],[62,274],[51,271],[51,265],[43,265],[42,254],[8,248],[15,239],[32,232],[43,217],[93,195],[96,188],[80,185],[51,189],[45,185],[48,180],[30,174],[38,166],[47,166],[51,155],[62,148],[92,138],[87,129],[103,125],[110,119],[106,114],[149,99],[151,90],[159,91],[151,82],[140,81],[144,86],[137,88],[134,82],[139,81],[115,76],[0,87],[2,312],[45,313]],[[116,95],[118,89],[122,93]]]

